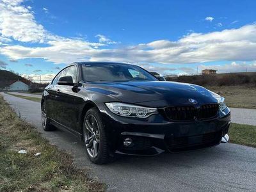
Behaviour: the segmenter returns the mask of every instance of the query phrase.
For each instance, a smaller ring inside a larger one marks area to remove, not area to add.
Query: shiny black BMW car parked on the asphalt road
[[[152,156],[225,143],[230,109],[202,86],[158,81],[136,65],[82,62],[45,88],[42,125],[81,136],[90,160],[102,164],[116,153]]]

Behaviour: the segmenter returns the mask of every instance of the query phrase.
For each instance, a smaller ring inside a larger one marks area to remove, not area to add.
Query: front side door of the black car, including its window
[[[73,83],[77,84],[78,76],[76,65],[67,67],[66,70],[65,75],[61,74],[60,77],[71,76]],[[74,90],[74,86],[58,84],[57,87],[58,89],[55,97],[58,112],[57,121],[66,128],[74,129],[76,131],[78,126],[78,106],[76,103],[77,93]]]

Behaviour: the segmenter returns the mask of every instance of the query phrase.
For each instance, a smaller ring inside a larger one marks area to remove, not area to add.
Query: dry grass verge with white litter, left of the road
[[[26,150],[26,154],[19,154]],[[40,156],[35,156],[41,152]],[[104,191],[72,157],[49,144],[0,96],[0,191]]]

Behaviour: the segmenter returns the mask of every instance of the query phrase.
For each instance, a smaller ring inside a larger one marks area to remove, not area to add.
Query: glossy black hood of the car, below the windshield
[[[198,104],[216,103],[220,95],[202,86],[170,81],[129,81],[90,83],[88,90],[115,97],[120,102],[142,104],[145,106],[171,106],[191,104],[195,99]]]

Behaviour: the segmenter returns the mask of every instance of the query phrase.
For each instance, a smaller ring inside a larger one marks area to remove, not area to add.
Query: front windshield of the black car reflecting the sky
[[[84,81],[158,81],[136,65],[121,63],[83,64],[82,73]]]

